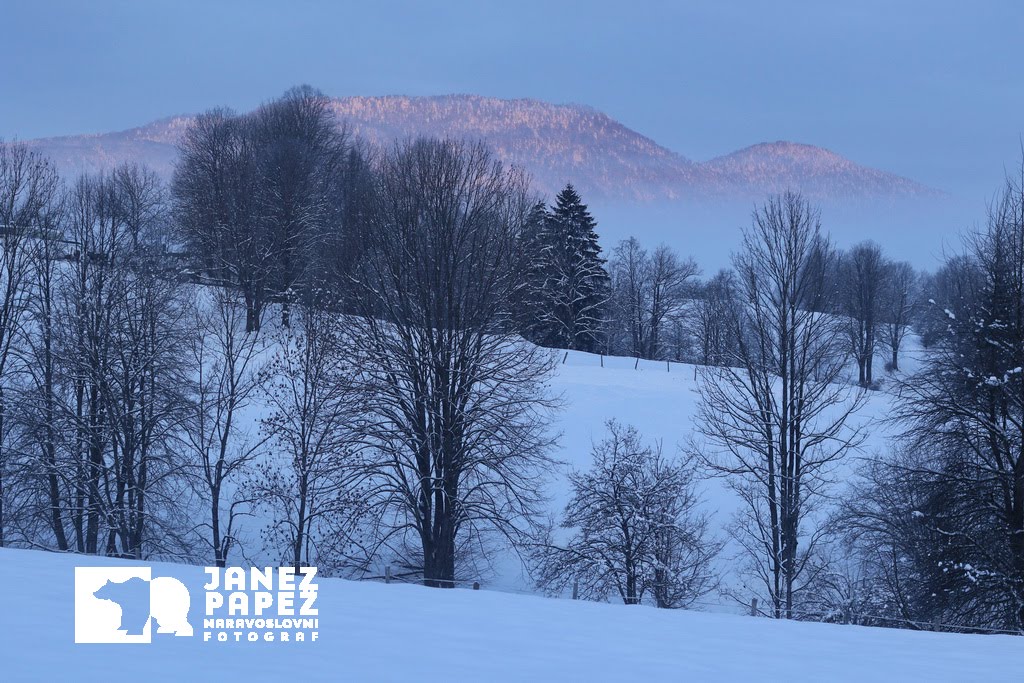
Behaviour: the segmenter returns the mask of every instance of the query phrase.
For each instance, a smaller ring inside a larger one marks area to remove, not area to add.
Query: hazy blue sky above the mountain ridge
[[[0,136],[291,85],[593,105],[692,159],[790,139],[956,195],[1024,133],[1024,3],[0,0]]]

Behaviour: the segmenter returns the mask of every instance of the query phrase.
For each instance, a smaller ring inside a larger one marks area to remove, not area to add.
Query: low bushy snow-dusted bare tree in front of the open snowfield
[[[642,443],[637,430],[609,421],[587,472],[569,475],[572,498],[561,526],[573,535],[539,550],[540,585],[574,586],[584,598],[617,594],[626,604],[650,596],[657,607],[685,607],[717,581],[721,544],[696,511],[692,469]]]

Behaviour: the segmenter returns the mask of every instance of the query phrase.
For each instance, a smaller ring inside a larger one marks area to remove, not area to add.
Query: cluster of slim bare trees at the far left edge
[[[168,434],[183,419],[187,302],[167,276],[160,183],[123,167],[63,189],[27,147],[0,154],[23,179],[3,187],[23,208],[3,238],[2,539],[129,557],[165,549],[183,485]]]

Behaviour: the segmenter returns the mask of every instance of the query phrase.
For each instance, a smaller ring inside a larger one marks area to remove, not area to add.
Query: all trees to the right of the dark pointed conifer
[[[741,502],[726,531],[765,615],[1020,632],[1022,245],[1021,177],[934,273],[873,243],[838,249],[795,193],[757,207],[733,267],[707,282],[664,247],[621,243],[603,350],[698,364],[694,436],[666,462],[609,424],[594,469],[570,477],[560,523],[572,533],[545,546],[541,585],[664,605],[655,569],[672,566],[690,580],[683,604],[716,587],[709,558],[722,546],[699,507],[657,523],[658,473],[682,467],[721,477]],[[862,415],[869,392],[886,401],[874,421]],[[694,500],[690,476],[671,500]],[[698,561],[658,557],[659,528],[683,532]]]

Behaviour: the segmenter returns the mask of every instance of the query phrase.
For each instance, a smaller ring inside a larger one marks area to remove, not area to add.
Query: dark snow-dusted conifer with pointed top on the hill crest
[[[535,212],[538,211],[535,208]],[[539,215],[538,215],[539,217]],[[526,336],[546,346],[596,351],[608,300],[597,222],[571,184],[538,232]]]

